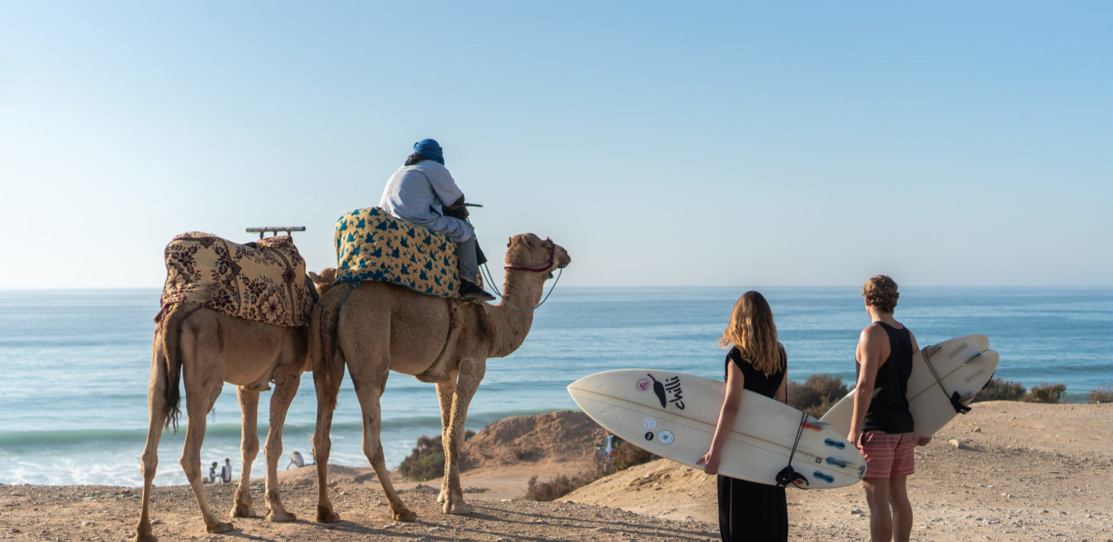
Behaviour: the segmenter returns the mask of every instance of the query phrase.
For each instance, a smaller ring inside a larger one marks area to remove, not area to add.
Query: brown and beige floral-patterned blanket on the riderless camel
[[[289,236],[240,245],[189,231],[166,246],[162,311],[156,322],[170,305],[194,302],[229,316],[302,326],[309,323],[314,294]]]

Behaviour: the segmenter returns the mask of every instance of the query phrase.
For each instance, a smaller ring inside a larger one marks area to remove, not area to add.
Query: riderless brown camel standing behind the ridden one
[[[327,274],[322,273],[323,275]],[[318,293],[327,290],[332,279],[309,273]],[[205,530],[220,533],[232,529],[232,523],[217,520],[205,500],[201,485],[201,441],[205,438],[205,416],[224,383],[235,384],[239,398],[243,423],[240,459],[244,469],[236,487],[233,518],[250,518],[249,481],[252,462],[259,451],[257,411],[259,392],[275,384],[270,396],[270,428],[264,454],[267,459],[266,507],[270,521],[293,521],[278,497],[278,460],[282,457],[282,428],[286,421],[302,372],[312,368],[308,356],[308,326],[283,327],[263,322],[228,316],[195,303],[177,303],[169,308],[155,329],[151,346],[150,383],[147,402],[150,407],[147,444],[142,453],[142,512],[136,528],[136,542],[154,542],[157,538],[150,528],[150,487],[158,466],[158,441],[162,427],[174,423],[181,411],[178,407],[178,381],[185,376],[186,387],[186,443],[183,447],[181,469],[193,486],[197,505],[201,510]]]

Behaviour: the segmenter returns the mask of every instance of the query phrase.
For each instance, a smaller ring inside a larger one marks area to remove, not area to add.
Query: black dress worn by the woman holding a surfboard
[[[780,346],[780,345],[778,345]],[[726,363],[733,363],[742,371],[743,387],[772,397],[785,378],[787,356],[780,346],[780,367],[770,376],[754,368],[742,359],[736,347],[727,354]],[[745,412],[739,415],[745,416]],[[741,540],[787,541],[788,504],[785,489],[719,475],[719,532],[723,542]]]

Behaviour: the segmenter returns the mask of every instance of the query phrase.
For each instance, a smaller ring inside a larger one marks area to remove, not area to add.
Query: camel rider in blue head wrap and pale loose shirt
[[[465,220],[450,216],[466,217],[463,205],[464,193],[444,167],[444,151],[433,139],[414,144],[414,152],[386,181],[383,198],[378,201],[378,206],[395,218],[440,231],[455,242],[460,259],[460,295],[466,299],[492,300],[494,296],[479,286],[475,230]]]

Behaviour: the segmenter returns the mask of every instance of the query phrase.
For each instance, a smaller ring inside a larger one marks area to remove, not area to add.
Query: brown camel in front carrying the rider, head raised
[[[504,357],[521,346],[533,323],[550,272],[572,258],[561,246],[533,234],[511,237],[506,250],[503,302],[499,305],[433,297],[382,282],[338,285],[322,296],[309,322],[311,349],[321,339],[314,366],[317,427],[313,454],[317,462],[317,521],[339,521],[328,501],[328,431],[344,366],[363,411],[363,452],[375,469],[393,518],[413,521],[417,514],[402,503],[391,483],[380,441],[380,397],[390,372],[435,382],[441,401],[444,480],[437,502],[450,514],[471,513],[460,489],[460,447],[467,405],[486,372],[489,357]]]

